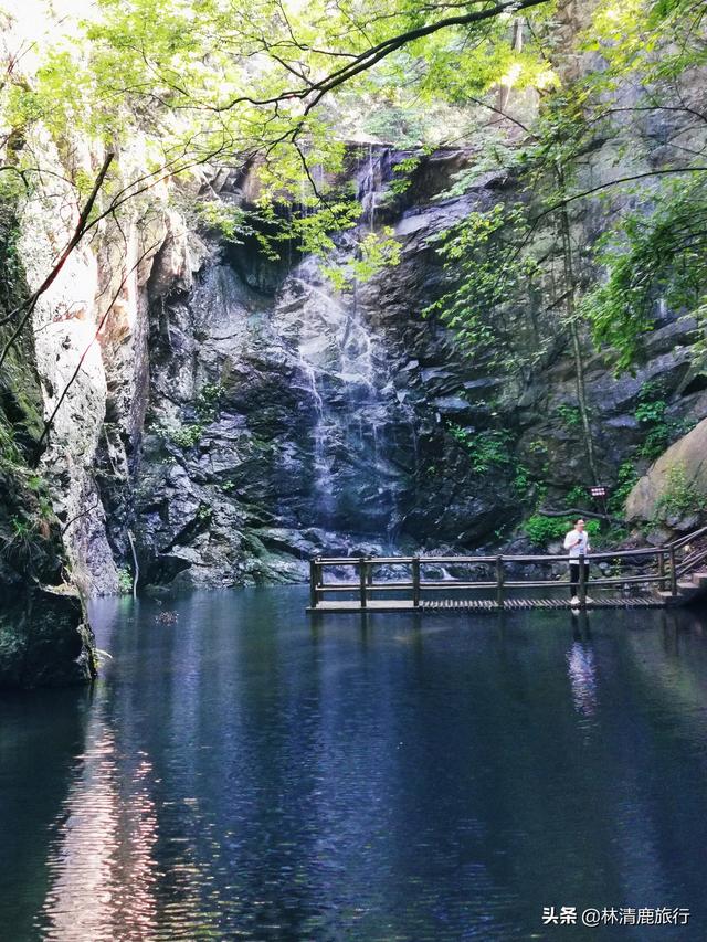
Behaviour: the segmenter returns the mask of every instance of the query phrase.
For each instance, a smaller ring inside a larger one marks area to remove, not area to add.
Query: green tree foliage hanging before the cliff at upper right
[[[633,109],[615,100],[620,84],[644,86],[644,99],[635,103],[636,117],[652,110],[656,116],[662,110],[682,110],[690,127],[704,126],[689,87],[685,93],[678,84],[683,74],[693,74],[690,70],[707,62],[703,6],[699,0],[600,0],[584,42],[585,47],[601,52],[608,67],[590,71],[563,87],[552,77],[545,86],[540,115],[527,129],[526,142],[508,146],[507,138],[502,139],[496,166],[510,168],[525,184],[527,205],[497,205],[472,213],[439,237],[450,288],[428,314],[440,315],[456,332],[464,351],[486,353],[494,362],[504,350],[507,361],[514,359],[508,350],[516,339],[518,318],[509,314],[528,307],[534,294],[542,297],[547,310],[557,309],[558,325],[563,324],[568,285],[566,278],[558,282],[555,272],[548,273],[547,258],[552,252],[559,254],[557,234],[550,236],[548,230],[553,226],[557,233],[559,218],[572,210],[571,204],[564,208],[568,192],[571,197],[572,189],[583,188],[576,174],[578,158],[612,138],[620,157],[624,156],[622,148],[635,150],[635,139],[632,145],[622,140],[625,123],[614,121],[614,112],[623,118]],[[552,42],[551,32],[548,36],[540,31],[539,35]],[[606,190],[609,199],[621,193],[639,205],[634,212],[624,212],[622,224],[612,226],[600,241],[595,261],[606,278],[588,293],[578,316],[589,322],[595,343],[615,350],[618,371],[635,368],[643,338],[664,304],[696,317],[701,339],[695,352],[698,367],[707,368],[707,172],[699,149],[675,147],[674,163],[661,166],[655,181],[637,180],[633,188]],[[484,139],[481,163],[487,158],[493,162],[494,146]],[[674,169],[680,172],[671,176]],[[465,169],[450,194],[477,186],[478,177],[476,165]],[[545,231],[542,226],[547,226]],[[531,235],[545,245],[545,256],[538,253],[534,257]],[[555,250],[550,248],[551,237]],[[573,254],[573,277],[581,284],[585,281],[578,277],[582,246]],[[537,322],[529,321],[537,331]],[[523,349],[523,345],[518,347]],[[521,369],[523,361],[517,357],[515,361]],[[655,451],[657,433],[652,438],[648,449]]]

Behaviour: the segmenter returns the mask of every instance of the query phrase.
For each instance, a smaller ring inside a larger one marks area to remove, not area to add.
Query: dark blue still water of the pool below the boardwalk
[[[707,613],[305,604],[102,601],[93,691],[0,700],[3,942],[707,939]]]

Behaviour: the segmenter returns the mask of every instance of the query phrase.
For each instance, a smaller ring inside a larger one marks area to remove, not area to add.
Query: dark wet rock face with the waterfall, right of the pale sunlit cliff
[[[519,473],[550,504],[591,483],[568,337],[538,310],[546,334],[534,338],[528,310],[511,313],[519,354],[539,363],[519,374],[465,359],[423,317],[443,289],[430,236],[493,207],[508,181],[479,174],[465,195],[440,199],[461,158],[435,155],[389,199],[397,159],[381,149],[351,170],[372,188],[359,193],[363,225],[384,219],[402,245],[401,264],[367,284],[337,292],[316,260],[272,264],[247,244],[212,245],[191,284],[158,257],[130,495],[143,583],[302,580],[317,553],[497,546],[534,501]],[[338,245],[346,263],[354,241]],[[608,479],[645,435],[635,410],[646,382],[662,384],[675,415],[698,415],[705,401],[687,383],[693,326],[664,311],[657,328],[635,377],[585,359]]]

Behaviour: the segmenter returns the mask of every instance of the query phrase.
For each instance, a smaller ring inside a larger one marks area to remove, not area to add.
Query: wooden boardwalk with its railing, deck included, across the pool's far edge
[[[663,547],[592,553],[591,578],[585,567],[579,567],[574,605],[569,597],[569,562],[566,555],[317,557],[309,562],[307,611],[513,612],[684,605],[707,596],[707,527]],[[519,579],[524,570],[528,579]],[[327,573],[334,579],[327,579]],[[467,597],[472,593],[483,597]]]

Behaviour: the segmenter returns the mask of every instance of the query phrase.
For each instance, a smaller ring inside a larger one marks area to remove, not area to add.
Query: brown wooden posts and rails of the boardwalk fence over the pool
[[[610,562],[613,567],[631,567],[632,570],[643,569],[632,574],[618,574],[600,576],[591,580],[593,589],[609,589],[621,586],[652,586],[669,592],[671,596],[678,595],[678,578],[694,572],[697,565],[707,559],[707,547],[690,549],[690,542],[707,534],[707,527],[696,530],[694,533],[683,537],[663,547],[651,547],[636,550],[616,550],[604,553],[592,553],[589,560],[597,564]],[[679,559],[680,550],[688,548],[687,555]],[[328,594],[355,593],[358,601],[356,607],[368,608],[372,596],[379,593],[394,594],[400,601],[401,607],[420,608],[424,604],[424,595],[430,593],[458,593],[469,591],[486,591],[492,593],[495,604],[503,608],[514,590],[545,590],[555,592],[567,590],[570,585],[567,580],[555,578],[555,573],[547,579],[514,579],[514,571],[520,567],[557,567],[558,563],[579,563],[578,599],[580,605],[587,604],[587,568],[583,565],[584,557],[569,555],[488,555],[488,557],[341,557],[323,558],[317,557],[309,563],[309,592],[310,608],[321,607],[321,603]],[[341,569],[344,567],[354,569],[351,581],[327,582],[325,573],[327,570]],[[380,567],[395,567],[409,571],[409,578],[384,579],[376,581],[374,570]],[[440,567],[454,567],[464,569],[483,570],[484,574],[475,578],[474,573],[467,576],[449,576],[446,579],[425,578],[425,570]],[[646,569],[647,568],[647,569]],[[569,567],[568,567],[569,574]],[[404,601],[400,595],[405,595]],[[539,597],[542,597],[540,594]],[[374,603],[373,603],[374,604]]]

